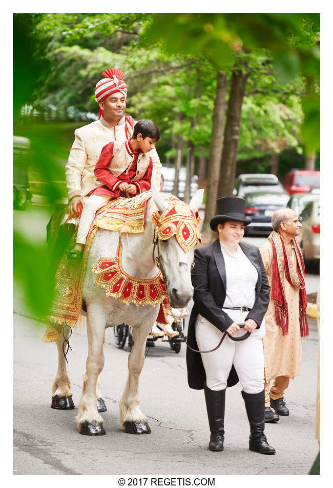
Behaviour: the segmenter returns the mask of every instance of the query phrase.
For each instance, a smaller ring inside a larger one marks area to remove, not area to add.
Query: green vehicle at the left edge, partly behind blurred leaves
[[[30,140],[13,136],[13,207],[24,210],[31,200],[28,178]]]

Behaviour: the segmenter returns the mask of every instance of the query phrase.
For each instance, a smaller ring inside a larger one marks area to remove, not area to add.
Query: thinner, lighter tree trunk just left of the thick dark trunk
[[[215,215],[217,186],[219,182],[221,153],[222,153],[222,135],[223,122],[225,115],[225,96],[228,81],[226,74],[221,71],[217,72],[216,96],[214,102],[212,142],[210,156],[207,164],[207,191],[206,191],[206,208],[202,231],[211,232],[210,220]]]

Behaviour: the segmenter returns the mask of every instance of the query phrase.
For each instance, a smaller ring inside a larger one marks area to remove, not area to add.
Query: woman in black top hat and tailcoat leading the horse
[[[240,243],[244,226],[251,222],[245,217],[245,200],[219,198],[217,209],[210,226],[219,238],[195,251],[194,306],[186,350],[188,382],[190,388],[204,389],[211,451],[223,451],[225,390],[240,381],[250,425],[249,449],[275,454],[264,435],[262,339],[270,288],[259,249]],[[245,323],[250,333],[241,341],[244,332],[239,323]]]

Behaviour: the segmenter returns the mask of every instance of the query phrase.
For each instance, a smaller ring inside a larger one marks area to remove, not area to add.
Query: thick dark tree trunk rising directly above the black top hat
[[[218,197],[232,196],[235,184],[237,148],[245,85],[249,74],[233,70],[226,114]]]

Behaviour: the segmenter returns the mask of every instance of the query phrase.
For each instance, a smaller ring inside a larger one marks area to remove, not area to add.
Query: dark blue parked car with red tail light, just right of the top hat
[[[265,234],[272,232],[272,215],[277,209],[283,209],[289,199],[284,192],[247,193],[245,198],[245,214],[252,222],[245,226],[245,235]]]

